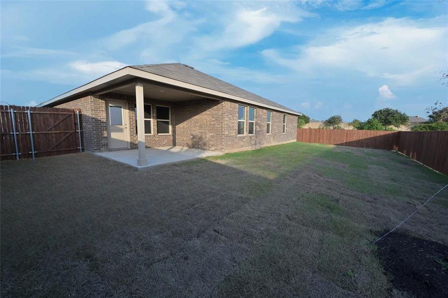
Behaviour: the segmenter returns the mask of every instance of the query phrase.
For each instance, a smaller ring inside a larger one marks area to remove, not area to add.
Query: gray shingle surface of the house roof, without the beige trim
[[[180,63],[166,63],[166,64],[148,64],[148,65],[131,65],[134,69],[145,71],[151,74],[158,74],[168,78],[176,79],[185,83],[190,83],[196,86],[213,89],[215,91],[227,93],[234,96],[243,97],[259,103],[267,104],[273,107],[285,109],[295,112],[290,108],[282,106],[267,98],[261,97],[257,94],[241,89],[228,82],[220,80],[208,74],[204,74],[195,70],[193,67]]]

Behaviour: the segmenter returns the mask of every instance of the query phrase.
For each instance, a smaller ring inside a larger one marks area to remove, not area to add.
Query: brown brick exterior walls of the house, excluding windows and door
[[[85,148],[89,151],[107,151],[106,100],[124,100],[128,103],[130,148],[137,148],[135,96],[106,93],[86,96],[57,105],[61,108],[80,108],[83,114]],[[278,111],[233,100],[209,98],[186,101],[164,101],[144,98],[152,105],[152,135],[145,135],[146,147],[183,146],[221,152],[258,149],[273,144],[293,142],[297,134],[297,116],[286,114],[286,133],[283,134],[283,115]],[[246,106],[245,135],[238,136],[238,105]],[[171,108],[171,134],[157,134],[157,105]],[[249,107],[254,107],[255,134],[248,135]],[[267,111],[271,114],[271,133],[266,133]]]

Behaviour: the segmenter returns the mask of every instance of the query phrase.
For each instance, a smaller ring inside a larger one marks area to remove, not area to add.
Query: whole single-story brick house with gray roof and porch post
[[[301,115],[179,63],[128,66],[39,106],[80,108],[86,150],[138,148],[139,165],[145,147],[230,152],[293,142]]]

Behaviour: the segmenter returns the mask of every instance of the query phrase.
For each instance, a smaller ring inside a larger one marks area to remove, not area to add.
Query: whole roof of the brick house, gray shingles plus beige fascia
[[[174,86],[181,85],[183,88],[188,89],[200,89],[201,92],[210,94],[210,96],[217,95],[249,104],[260,104],[261,106],[272,108],[274,110],[301,115],[301,113],[281,104],[239,88],[211,75],[199,72],[191,66],[180,63],[127,66],[47,100],[38,106],[53,106],[59,102],[68,101],[72,98],[75,99],[76,96],[79,96],[80,94],[94,92],[106,86],[111,86],[112,84],[136,77],[149,79],[156,82],[163,82]]]

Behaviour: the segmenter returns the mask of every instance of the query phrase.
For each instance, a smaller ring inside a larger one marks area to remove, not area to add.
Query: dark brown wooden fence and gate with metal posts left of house
[[[21,159],[83,150],[81,112],[0,105],[0,158]]]

